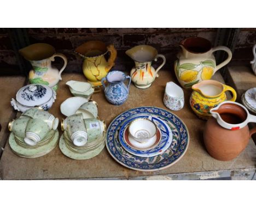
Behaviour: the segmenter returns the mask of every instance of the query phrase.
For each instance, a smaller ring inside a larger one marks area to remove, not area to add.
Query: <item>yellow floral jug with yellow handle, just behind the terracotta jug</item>
[[[217,107],[219,103],[227,100],[225,91],[231,91],[232,99],[236,100],[236,91],[228,85],[215,80],[205,80],[192,86],[193,93],[190,96],[190,106],[201,119],[212,116],[210,109]]]

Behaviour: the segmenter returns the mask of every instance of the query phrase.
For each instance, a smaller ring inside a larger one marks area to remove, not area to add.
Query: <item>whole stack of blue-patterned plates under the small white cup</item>
[[[149,119],[157,126],[156,138],[140,144],[129,136],[135,119]],[[189,133],[181,119],[157,107],[139,107],[121,113],[109,125],[106,146],[110,155],[123,166],[141,171],[170,167],[188,149]]]

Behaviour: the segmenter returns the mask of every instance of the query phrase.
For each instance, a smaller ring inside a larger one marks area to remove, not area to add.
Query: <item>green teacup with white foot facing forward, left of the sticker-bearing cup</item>
[[[83,146],[87,142],[88,135],[86,133],[85,124],[82,114],[74,114],[67,117],[61,123],[62,131],[66,131],[69,138],[76,146]]]

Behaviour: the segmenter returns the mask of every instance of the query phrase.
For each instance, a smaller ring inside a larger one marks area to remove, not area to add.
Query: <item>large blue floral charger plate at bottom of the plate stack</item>
[[[165,121],[172,131],[172,142],[161,155],[139,157],[127,152],[120,144],[118,134],[120,127],[131,117],[138,115],[154,115]],[[187,126],[177,115],[158,107],[133,108],[118,115],[108,126],[106,146],[109,154],[123,166],[140,171],[154,171],[172,166],[179,161],[188,149],[189,132]]]

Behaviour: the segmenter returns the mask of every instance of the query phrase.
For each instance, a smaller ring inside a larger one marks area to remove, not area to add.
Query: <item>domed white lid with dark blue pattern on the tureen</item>
[[[53,90],[42,84],[28,84],[19,89],[16,100],[24,106],[39,106],[48,102],[53,96]]]

